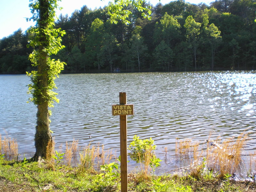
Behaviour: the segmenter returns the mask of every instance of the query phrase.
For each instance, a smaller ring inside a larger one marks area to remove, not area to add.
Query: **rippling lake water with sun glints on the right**
[[[36,106],[26,103],[29,80],[0,75],[0,134],[17,140],[21,157],[35,153]],[[127,142],[135,134],[152,137],[164,171],[177,167],[176,138],[206,148],[209,135],[236,138],[246,130],[244,156],[256,149],[256,71],[71,74],[55,82],[60,99],[51,117],[55,147],[75,139],[80,147],[104,144],[118,156],[119,117],[112,116],[111,105],[126,92],[127,104],[134,104],[134,116],[127,116]]]

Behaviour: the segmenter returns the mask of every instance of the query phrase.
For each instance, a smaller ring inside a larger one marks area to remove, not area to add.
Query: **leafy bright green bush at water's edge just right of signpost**
[[[133,141],[130,143],[128,149],[131,150],[131,158],[132,160],[139,162],[144,160],[144,154],[146,151],[153,151],[156,149],[156,145],[154,145],[154,140],[150,137],[148,139],[140,140],[140,137],[137,135],[133,136]]]

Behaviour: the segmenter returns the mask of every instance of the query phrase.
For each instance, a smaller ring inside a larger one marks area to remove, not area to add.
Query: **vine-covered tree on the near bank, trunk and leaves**
[[[31,76],[32,83],[28,85],[28,92],[32,94],[31,101],[37,105],[37,121],[35,133],[36,153],[31,160],[40,158],[49,159],[52,152],[52,135],[50,131],[49,107],[53,102],[59,102],[55,92],[54,79],[64,67],[60,60],[52,60],[50,56],[56,54],[64,46],[61,45],[61,37],[65,34],[60,28],[54,28],[55,9],[57,0],[30,0],[32,18],[36,21],[36,27],[28,31],[30,35],[29,45],[34,51],[29,55],[32,65],[37,71],[27,72]]]

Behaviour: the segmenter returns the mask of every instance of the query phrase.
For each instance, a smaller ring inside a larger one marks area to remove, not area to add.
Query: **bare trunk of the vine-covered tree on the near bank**
[[[46,34],[43,32],[44,29],[48,27],[49,18],[49,2],[48,0],[39,0],[39,41],[42,44],[39,46],[38,55],[38,76],[36,86],[40,90],[40,94],[37,95],[37,121],[36,121],[36,134],[35,134],[35,156],[32,157],[33,160],[39,160],[44,158],[46,160],[50,159],[52,154],[52,135],[50,132],[49,123],[49,111],[48,111],[48,100],[47,100],[47,89],[48,89],[48,65],[47,60],[49,58],[45,48],[49,46],[49,40]]]

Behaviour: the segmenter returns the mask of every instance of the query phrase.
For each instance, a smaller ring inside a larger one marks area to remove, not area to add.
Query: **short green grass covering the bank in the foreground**
[[[46,163],[21,163],[0,165],[0,180],[6,180],[5,185],[13,185],[14,191],[45,191],[45,192],[96,192],[120,191],[120,178],[110,185],[97,181],[99,172],[79,172],[77,167],[62,167],[49,169]],[[103,182],[104,183],[104,182]],[[221,180],[212,172],[207,172],[195,179],[191,176],[177,175],[141,175],[129,174],[128,187],[131,192],[247,192],[255,191],[253,182],[235,182],[228,178]],[[19,189],[19,190],[18,190]],[[24,190],[23,190],[24,189]]]

